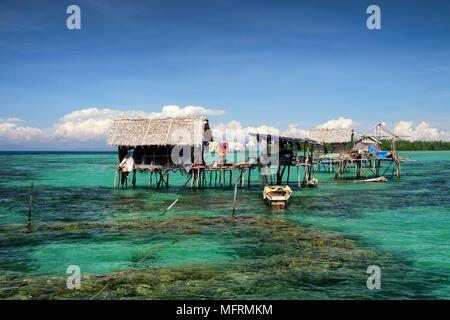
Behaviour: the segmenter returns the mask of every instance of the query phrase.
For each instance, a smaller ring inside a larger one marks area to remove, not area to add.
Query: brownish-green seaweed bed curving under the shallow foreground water
[[[283,219],[254,215],[38,225],[31,232],[80,233],[86,229],[98,228],[114,228],[115,231],[147,235],[170,235],[179,241],[202,233],[223,233],[225,239],[230,239],[230,249],[239,259],[162,268],[141,268],[136,265],[135,268],[104,274],[83,273],[79,290],[67,288],[67,277],[23,277],[8,272],[0,277],[0,298],[292,299],[302,298],[302,291],[311,287],[316,289],[316,298],[323,298],[329,297],[327,292],[333,286],[339,286],[339,292],[345,292],[342,286],[360,286],[361,291],[364,291],[366,267],[374,263],[386,265],[392,259],[387,255],[381,256],[373,251],[360,249],[353,241],[337,233],[302,227]],[[1,231],[17,233],[19,230],[2,227]],[[242,244],[239,237],[230,237],[230,234],[240,235],[251,241],[247,240]],[[152,255],[147,258],[151,261]],[[138,260],[137,257],[135,260]]]

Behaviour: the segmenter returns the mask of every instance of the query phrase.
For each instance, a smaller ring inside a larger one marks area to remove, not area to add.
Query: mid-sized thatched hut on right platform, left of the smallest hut
[[[308,132],[309,139],[319,142],[315,147],[316,153],[347,152],[353,136],[353,129],[310,129]],[[327,145],[331,145],[331,150]]]

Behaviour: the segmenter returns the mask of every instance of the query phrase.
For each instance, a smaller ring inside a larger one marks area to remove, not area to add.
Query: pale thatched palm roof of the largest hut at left
[[[205,117],[118,118],[108,134],[116,146],[195,145],[200,146],[209,129]]]

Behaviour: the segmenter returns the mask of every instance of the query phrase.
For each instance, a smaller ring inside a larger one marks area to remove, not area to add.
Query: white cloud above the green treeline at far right
[[[406,136],[407,140],[450,140],[450,133],[448,131],[439,131],[437,128],[431,128],[430,125],[424,121],[419,123],[416,127],[412,121],[400,121],[394,127],[394,133],[399,136]]]

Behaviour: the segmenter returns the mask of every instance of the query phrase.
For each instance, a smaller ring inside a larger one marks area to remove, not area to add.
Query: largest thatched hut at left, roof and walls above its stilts
[[[175,146],[181,147],[181,157],[183,150],[190,150],[190,164],[204,164],[203,157],[194,155],[202,154],[204,141],[211,141],[209,129],[205,117],[118,118],[107,140],[109,145],[118,146],[119,163],[129,155],[139,169],[178,169],[185,164],[174,163],[171,155]]]

